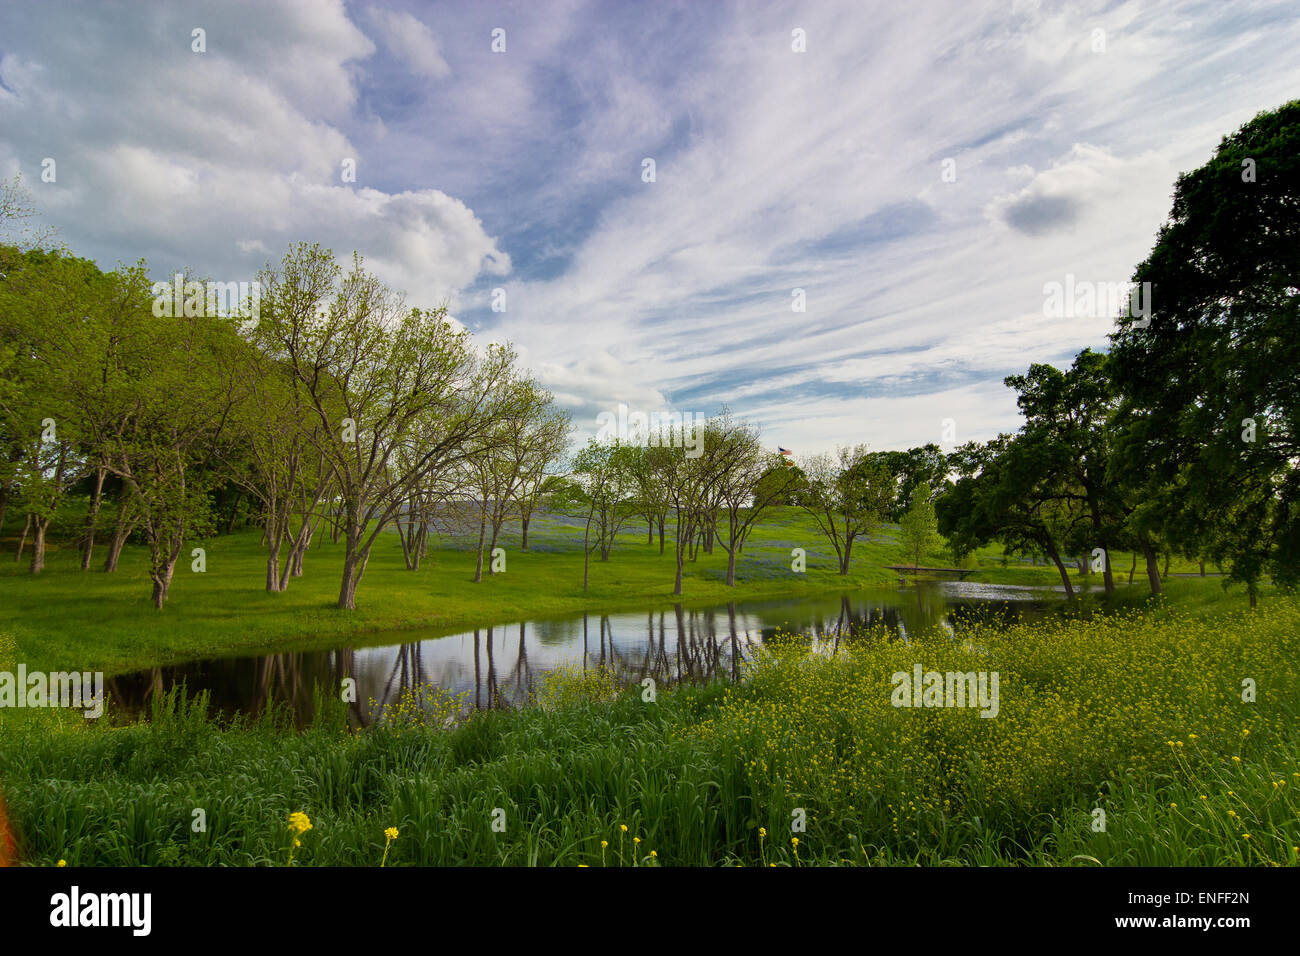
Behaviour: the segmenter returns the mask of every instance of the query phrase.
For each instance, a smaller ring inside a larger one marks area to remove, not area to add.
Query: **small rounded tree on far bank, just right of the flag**
[[[815,455],[801,467],[806,475],[802,507],[835,548],[840,574],[846,575],[853,542],[879,527],[892,506],[894,479],[866,445],[840,447],[835,457]]]

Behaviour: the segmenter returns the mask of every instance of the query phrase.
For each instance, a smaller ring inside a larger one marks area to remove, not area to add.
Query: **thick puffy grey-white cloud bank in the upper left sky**
[[[126,7],[99,20],[75,8],[83,31],[49,30],[51,16],[49,5],[5,12],[0,166],[18,164],[40,186],[38,208],[78,252],[239,277],[308,239],[342,260],[361,252],[421,306],[510,271],[464,202],[365,185],[369,146],[341,121],[374,44],[342,3]],[[428,52],[432,34],[402,16],[378,18],[410,38],[406,52]],[[207,53],[191,52],[195,25]],[[46,155],[58,163],[52,185],[32,163]],[[355,185],[342,182],[347,157]]]

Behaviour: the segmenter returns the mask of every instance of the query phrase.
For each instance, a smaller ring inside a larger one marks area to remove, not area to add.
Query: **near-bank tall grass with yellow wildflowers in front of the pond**
[[[0,649],[0,654],[4,650]],[[0,662],[3,663],[3,662]],[[915,665],[996,717],[898,708]],[[20,858],[56,865],[1296,865],[1300,604],[1157,606],[954,640],[774,641],[737,684],[556,675],[540,706],[368,731],[0,723]],[[196,830],[195,810],[204,827]],[[290,814],[303,814],[294,816]],[[309,823],[309,826],[304,826]]]

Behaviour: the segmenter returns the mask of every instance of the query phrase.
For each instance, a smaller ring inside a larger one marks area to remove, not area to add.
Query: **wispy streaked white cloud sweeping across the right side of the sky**
[[[686,88],[651,98],[653,124],[621,152],[621,198],[564,274],[515,289],[500,334],[547,368],[618,355],[592,392],[653,384],[693,406],[729,402],[803,445],[920,444],[944,410],[985,437],[1015,420],[1005,375],[1104,347],[1113,329],[1044,316],[1044,282],[1126,281],[1178,173],[1280,104],[1277,77],[1300,81],[1286,31],[1223,44],[1235,25],[1210,7],[1192,36],[1182,14],[1135,4],[797,13],[809,53],[789,52],[793,13],[738,8]],[[1093,25],[1106,53],[1091,51]],[[1256,88],[1225,90],[1222,65],[1187,62],[1222,46]],[[636,164],[655,155],[642,144],[666,103],[692,135],[642,185]],[[621,143],[629,129],[611,108],[584,116],[577,137]],[[956,183],[940,182],[944,156],[958,157]],[[858,241],[819,246],[836,235]],[[793,286],[807,290],[803,315]],[[982,384],[945,384],[968,377]],[[774,388],[789,403],[770,405]],[[854,397],[880,390],[893,397]]]

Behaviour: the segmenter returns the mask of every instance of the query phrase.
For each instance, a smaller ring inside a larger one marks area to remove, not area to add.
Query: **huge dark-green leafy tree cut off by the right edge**
[[[1112,337],[1130,483],[1179,489],[1161,524],[1253,596],[1300,578],[1300,100],[1260,113],[1174,189]],[[1249,533],[1243,533],[1243,520]],[[1195,529],[1197,540],[1183,535]]]

